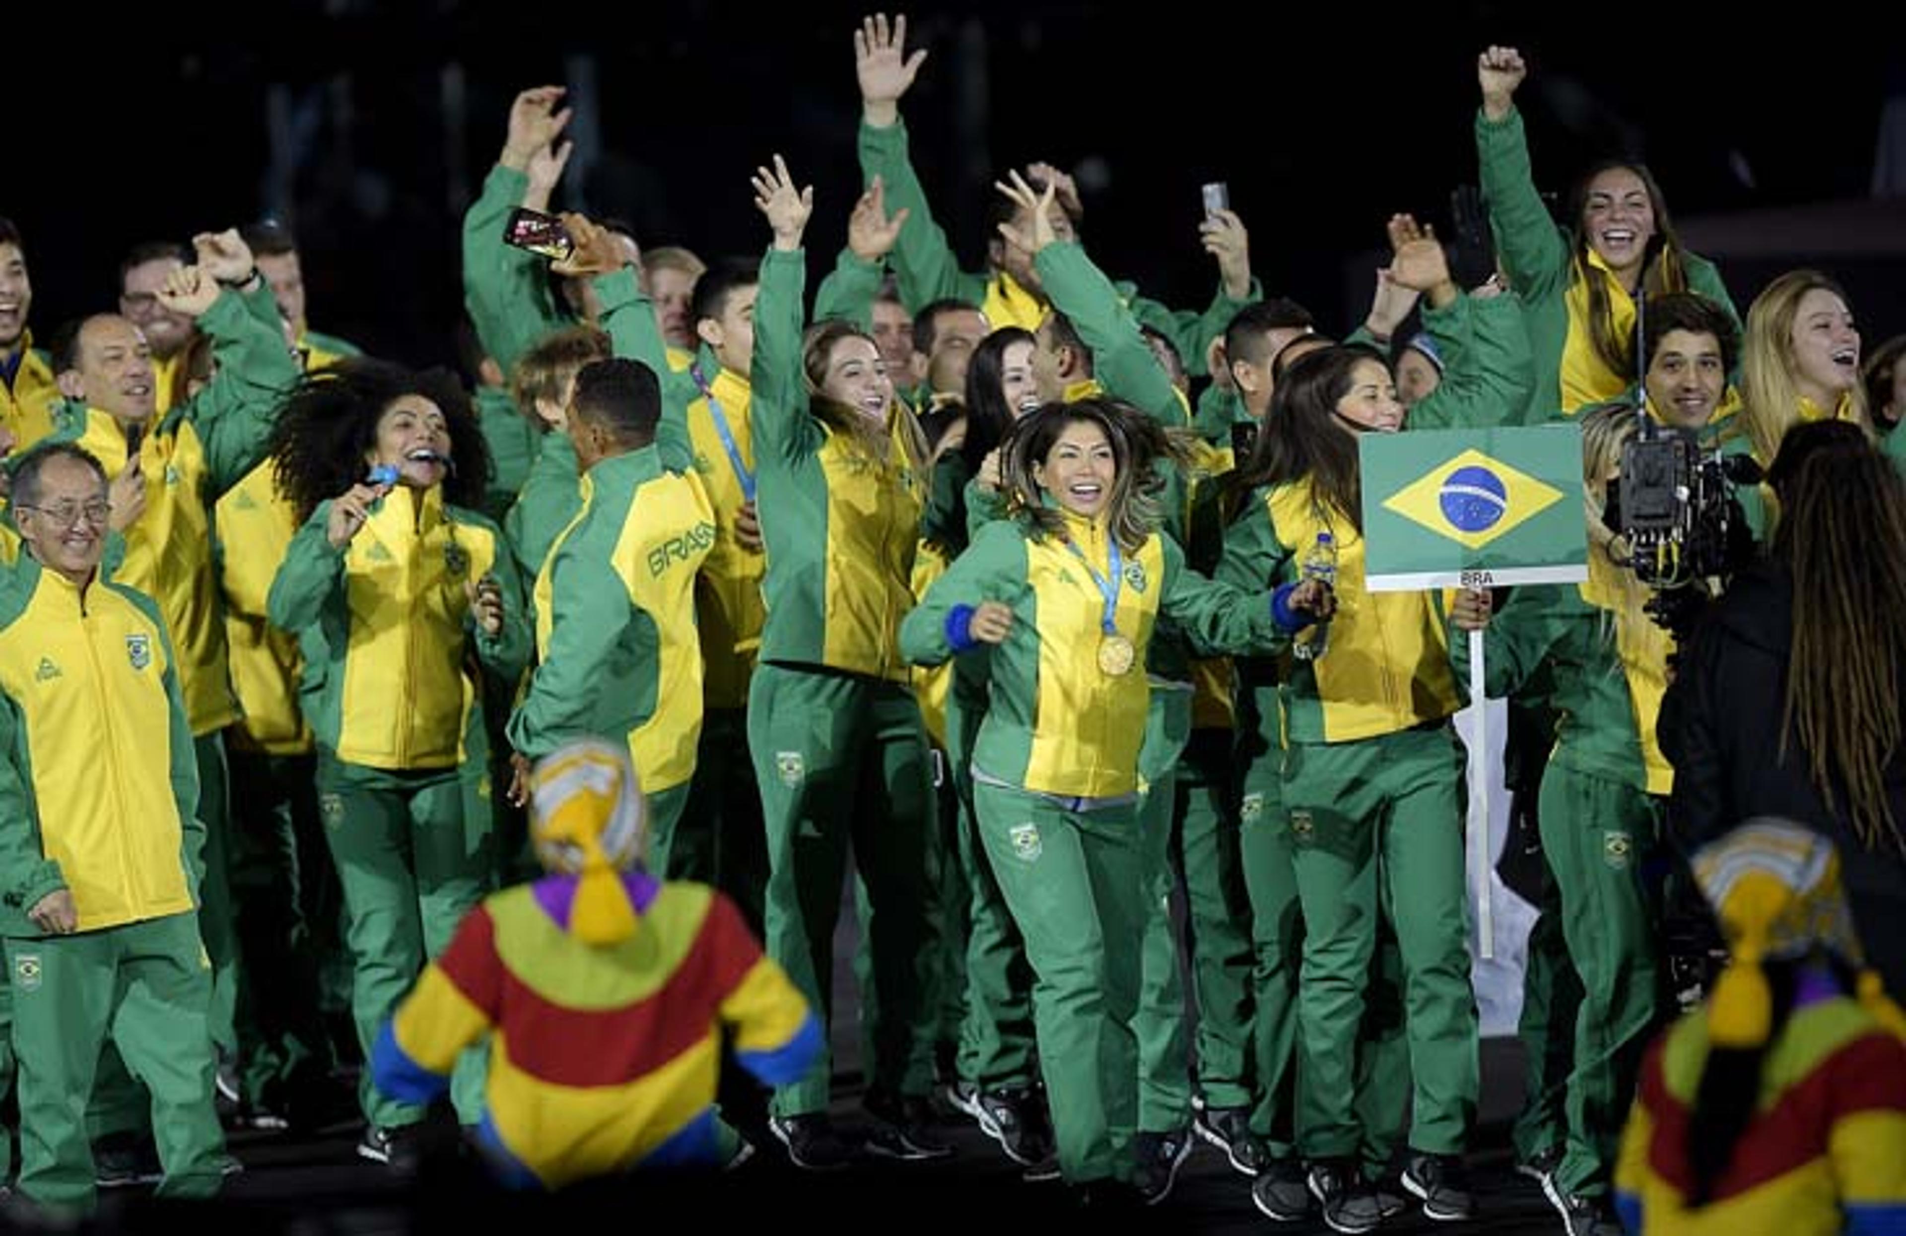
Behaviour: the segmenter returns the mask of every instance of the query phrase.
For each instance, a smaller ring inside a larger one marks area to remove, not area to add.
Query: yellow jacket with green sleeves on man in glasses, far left
[[[0,931],[40,935],[27,910],[63,887],[80,931],[191,912],[196,813],[158,606],[21,556],[0,588]]]

